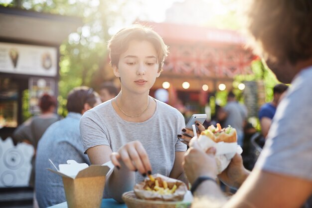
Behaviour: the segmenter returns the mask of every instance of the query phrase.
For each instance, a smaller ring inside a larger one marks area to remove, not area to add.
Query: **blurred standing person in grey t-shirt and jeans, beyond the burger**
[[[231,125],[236,129],[237,143],[243,147],[247,108],[236,100],[235,94],[232,91],[227,95],[227,104],[224,108],[218,110],[217,118],[218,121],[223,122],[224,127]]]

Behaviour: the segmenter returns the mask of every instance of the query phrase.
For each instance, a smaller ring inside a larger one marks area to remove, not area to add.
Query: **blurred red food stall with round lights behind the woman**
[[[198,112],[198,104],[204,106],[209,94],[219,91],[220,84],[231,90],[236,75],[253,73],[250,65],[256,56],[244,47],[245,38],[237,31],[167,22],[142,23],[151,25],[169,46],[163,72],[151,94],[167,88],[168,103],[173,106],[181,100]]]

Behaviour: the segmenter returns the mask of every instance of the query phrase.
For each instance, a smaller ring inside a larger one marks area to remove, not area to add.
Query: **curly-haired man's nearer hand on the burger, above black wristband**
[[[196,139],[192,139],[191,143],[192,146],[184,155],[182,163],[188,181],[193,184],[200,176],[216,178],[217,163],[214,157],[216,149],[212,147],[207,152],[204,152]]]

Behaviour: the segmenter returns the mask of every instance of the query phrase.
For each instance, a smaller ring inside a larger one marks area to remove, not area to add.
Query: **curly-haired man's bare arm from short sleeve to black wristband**
[[[222,208],[299,208],[311,194],[311,181],[254,170]],[[198,187],[195,198],[203,199],[195,199],[196,208],[203,208],[208,203],[223,204],[225,201],[220,188],[211,181],[205,181]]]

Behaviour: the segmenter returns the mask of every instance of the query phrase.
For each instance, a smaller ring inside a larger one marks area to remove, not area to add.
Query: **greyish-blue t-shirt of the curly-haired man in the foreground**
[[[312,67],[293,80],[277,108],[257,168],[312,181],[311,80]]]

